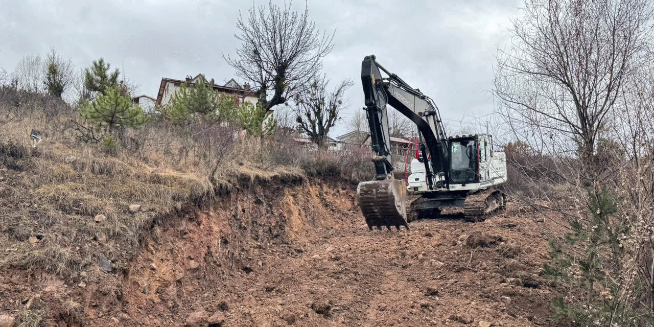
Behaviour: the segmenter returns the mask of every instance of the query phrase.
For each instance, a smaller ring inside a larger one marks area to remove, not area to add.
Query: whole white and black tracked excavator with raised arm
[[[507,196],[498,188],[507,181],[506,155],[493,150],[492,135],[447,137],[434,101],[388,72],[374,55],[364,58],[361,80],[375,177],[360,182],[356,194],[370,230],[409,230],[412,220],[434,218],[445,207],[473,220],[506,207]],[[416,154],[407,179],[394,177],[387,105],[417,126]]]

